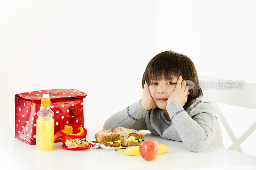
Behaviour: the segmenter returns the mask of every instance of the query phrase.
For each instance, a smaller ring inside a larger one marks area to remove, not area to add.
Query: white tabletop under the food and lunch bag
[[[102,127],[85,128],[86,138],[91,141]],[[152,162],[102,148],[69,151],[62,148],[62,143],[54,143],[52,151],[40,152],[36,145],[14,139],[13,126],[2,127],[1,132],[6,135],[1,139],[1,166],[7,169],[256,169],[256,156],[213,146],[203,152],[190,152],[183,142],[155,136],[146,130],[141,131],[145,140],[156,140],[168,147],[167,152]]]

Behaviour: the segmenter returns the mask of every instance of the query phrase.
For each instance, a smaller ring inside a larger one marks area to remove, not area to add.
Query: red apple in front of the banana
[[[160,147],[155,140],[150,141],[149,139],[149,141],[145,141],[140,144],[139,151],[140,156],[143,159],[153,161],[156,160],[157,157],[159,156]]]

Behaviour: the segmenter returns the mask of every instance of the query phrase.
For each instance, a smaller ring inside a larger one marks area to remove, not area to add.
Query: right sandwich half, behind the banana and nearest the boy
[[[122,146],[139,146],[144,142],[144,135],[135,129],[117,127],[113,129],[113,132],[121,135],[120,138]]]

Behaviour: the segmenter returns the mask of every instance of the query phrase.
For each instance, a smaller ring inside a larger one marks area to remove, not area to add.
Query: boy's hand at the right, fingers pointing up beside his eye
[[[172,94],[169,96],[167,100],[167,104],[172,101],[179,101],[181,106],[183,107],[188,100],[188,90],[186,89],[186,80],[181,78],[181,76],[177,80],[176,87]]]

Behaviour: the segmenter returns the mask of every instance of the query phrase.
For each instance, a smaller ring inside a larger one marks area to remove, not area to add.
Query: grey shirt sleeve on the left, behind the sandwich
[[[103,130],[113,130],[116,127],[131,128],[136,130],[147,129],[146,123],[143,119],[148,110],[143,109],[140,106],[140,100],[131,106],[117,112],[110,116],[104,123]]]

